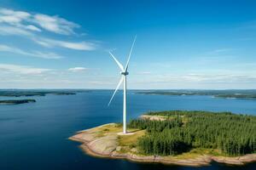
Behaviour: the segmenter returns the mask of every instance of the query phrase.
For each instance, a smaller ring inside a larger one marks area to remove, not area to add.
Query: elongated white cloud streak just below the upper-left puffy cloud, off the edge
[[[94,50],[96,45],[91,42],[65,42],[59,40],[53,40],[49,38],[41,38],[41,39],[33,39],[40,45],[44,47],[53,48],[53,47],[61,47],[61,48],[70,48],[76,50]]]

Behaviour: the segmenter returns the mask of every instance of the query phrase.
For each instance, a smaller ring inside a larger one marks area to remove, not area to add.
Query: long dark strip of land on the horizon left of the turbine
[[[22,97],[22,96],[45,96],[46,94],[55,95],[74,95],[77,93],[88,92],[88,90],[0,90],[0,96]]]

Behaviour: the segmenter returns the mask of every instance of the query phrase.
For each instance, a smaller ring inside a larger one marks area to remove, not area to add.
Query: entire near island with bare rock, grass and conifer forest
[[[122,125],[109,123],[79,131],[90,156],[200,167],[211,161],[243,165],[256,161],[256,116],[230,112],[159,111]]]

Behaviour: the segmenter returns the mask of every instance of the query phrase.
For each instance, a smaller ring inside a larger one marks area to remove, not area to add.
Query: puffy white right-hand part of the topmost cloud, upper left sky
[[[73,29],[79,27],[78,24],[71,21],[58,16],[49,16],[47,14],[35,14],[33,16],[33,21],[47,31],[64,35],[73,34]]]

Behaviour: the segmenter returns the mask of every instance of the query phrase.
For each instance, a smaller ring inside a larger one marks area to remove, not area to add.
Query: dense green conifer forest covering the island
[[[160,111],[164,121],[133,119],[129,127],[146,129],[137,148],[147,155],[177,155],[195,148],[217,149],[224,156],[256,153],[256,116],[230,112]]]

